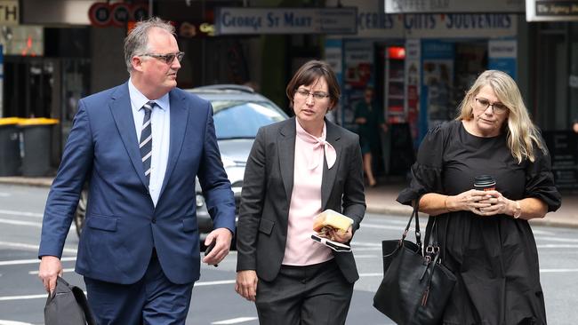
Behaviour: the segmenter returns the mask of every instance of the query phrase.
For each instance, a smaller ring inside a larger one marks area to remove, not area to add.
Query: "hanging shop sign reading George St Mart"
[[[357,8],[233,8],[216,10],[216,35],[356,34]]]

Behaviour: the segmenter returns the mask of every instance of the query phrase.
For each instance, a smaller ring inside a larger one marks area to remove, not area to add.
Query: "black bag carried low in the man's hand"
[[[83,289],[71,286],[60,276],[44,306],[45,325],[96,325]]]

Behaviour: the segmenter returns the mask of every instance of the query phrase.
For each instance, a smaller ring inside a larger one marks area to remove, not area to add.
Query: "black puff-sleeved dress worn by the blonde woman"
[[[477,175],[496,179],[496,190],[510,200],[535,197],[560,206],[560,194],[550,171],[550,156],[535,150],[535,161],[518,161],[510,154],[506,135],[479,138],[460,121],[429,131],[412,167],[411,185],[397,197],[411,204],[426,193],[461,194],[473,188]],[[436,220],[436,231],[432,225]],[[442,263],[457,276],[446,306],[444,324],[545,324],[546,313],[538,252],[528,222],[500,215],[479,217],[456,211],[430,217],[426,241],[437,237]]]

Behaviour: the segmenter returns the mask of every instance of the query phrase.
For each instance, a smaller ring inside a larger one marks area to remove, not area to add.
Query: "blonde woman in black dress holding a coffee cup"
[[[426,241],[438,242],[458,278],[443,323],[545,324],[527,220],[560,206],[550,156],[509,75],[484,72],[459,109],[423,139],[411,185],[397,197],[420,200],[430,216]],[[472,189],[482,174],[494,177],[494,191]]]

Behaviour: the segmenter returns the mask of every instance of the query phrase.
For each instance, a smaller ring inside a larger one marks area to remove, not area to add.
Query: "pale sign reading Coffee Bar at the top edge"
[[[524,12],[524,0],[384,0],[386,13]],[[527,0],[526,0],[527,1]]]

